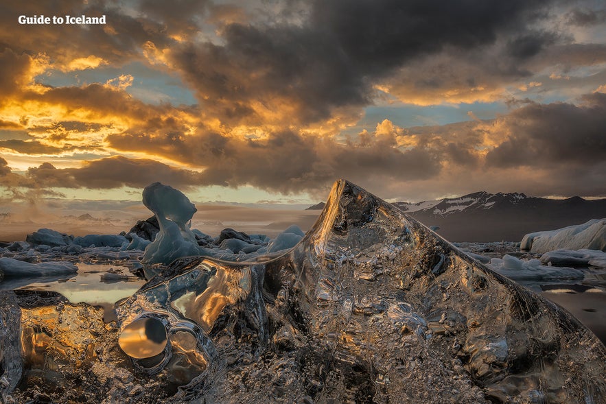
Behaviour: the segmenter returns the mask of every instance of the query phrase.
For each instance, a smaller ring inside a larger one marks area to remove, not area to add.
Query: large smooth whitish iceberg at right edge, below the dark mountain
[[[577,226],[529,233],[522,239],[520,248],[539,254],[559,249],[606,251],[606,219],[592,219]]]

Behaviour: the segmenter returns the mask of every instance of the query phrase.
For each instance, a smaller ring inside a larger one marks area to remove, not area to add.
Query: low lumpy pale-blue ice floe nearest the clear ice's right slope
[[[514,281],[546,281],[551,279],[583,279],[583,272],[574,268],[541,265],[538,259],[522,261],[509,254],[503,259],[493,258],[488,264],[496,272]]]

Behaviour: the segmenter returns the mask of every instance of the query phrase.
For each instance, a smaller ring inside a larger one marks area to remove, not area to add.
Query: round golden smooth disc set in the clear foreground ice
[[[153,357],[166,346],[166,329],[155,318],[139,318],[124,327],[118,345],[124,353],[136,359]]]

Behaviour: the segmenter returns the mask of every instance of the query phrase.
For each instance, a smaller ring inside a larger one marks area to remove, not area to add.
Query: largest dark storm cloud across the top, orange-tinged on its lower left
[[[445,47],[461,54],[513,37],[510,57],[535,56],[557,39],[530,27],[548,3],[316,1],[302,25],[227,25],[224,43],[176,48],[172,62],[225,121],[259,121],[250,102],[275,97],[296,108],[288,119],[318,121],[336,106],[369,104],[377,80]]]

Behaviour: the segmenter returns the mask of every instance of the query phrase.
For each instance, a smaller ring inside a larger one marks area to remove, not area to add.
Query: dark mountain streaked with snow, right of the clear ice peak
[[[554,230],[606,217],[606,199],[555,200],[524,193],[470,193],[459,198],[395,202],[401,211],[449,241],[520,241],[526,233]]]

